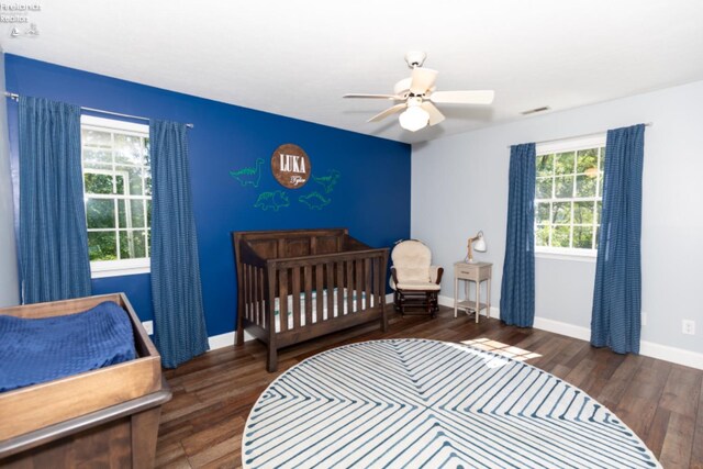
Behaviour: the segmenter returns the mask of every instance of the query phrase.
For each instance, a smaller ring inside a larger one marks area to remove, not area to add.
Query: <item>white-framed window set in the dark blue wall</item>
[[[92,277],[149,271],[148,126],[81,118],[83,196]]]

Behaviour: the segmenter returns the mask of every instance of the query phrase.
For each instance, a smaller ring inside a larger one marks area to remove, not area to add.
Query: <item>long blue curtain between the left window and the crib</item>
[[[208,350],[186,124],[149,123],[152,299],[155,342],[166,368]]]

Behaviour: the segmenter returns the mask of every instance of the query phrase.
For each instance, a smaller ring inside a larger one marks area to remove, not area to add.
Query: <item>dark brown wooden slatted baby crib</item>
[[[279,348],[371,321],[380,321],[387,330],[388,248],[370,248],[346,228],[233,232],[232,242],[238,287],[236,344],[244,344],[245,330],[264,342],[269,372],[278,367]],[[336,294],[336,303],[334,294],[326,299],[312,294],[335,288],[347,292],[346,298]],[[280,301],[277,332],[272,305],[277,298],[289,295],[310,300],[303,308],[292,301],[292,327],[287,321],[288,302]],[[366,298],[356,310],[354,295]],[[314,316],[313,302],[316,311],[330,313]]]

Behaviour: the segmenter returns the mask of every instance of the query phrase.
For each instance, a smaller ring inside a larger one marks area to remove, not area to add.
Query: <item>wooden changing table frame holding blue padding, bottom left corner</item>
[[[137,358],[0,393],[0,467],[153,467],[161,404],[170,400],[160,356],[124,293],[0,309],[52,317],[121,305]]]

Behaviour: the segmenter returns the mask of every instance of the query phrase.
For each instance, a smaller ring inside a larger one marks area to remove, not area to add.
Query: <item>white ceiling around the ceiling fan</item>
[[[11,54],[401,142],[703,79],[701,0],[32,0]],[[23,3],[23,2],[11,2]],[[3,12],[4,13],[4,12]],[[416,133],[366,120],[425,51],[438,90],[494,89]]]

